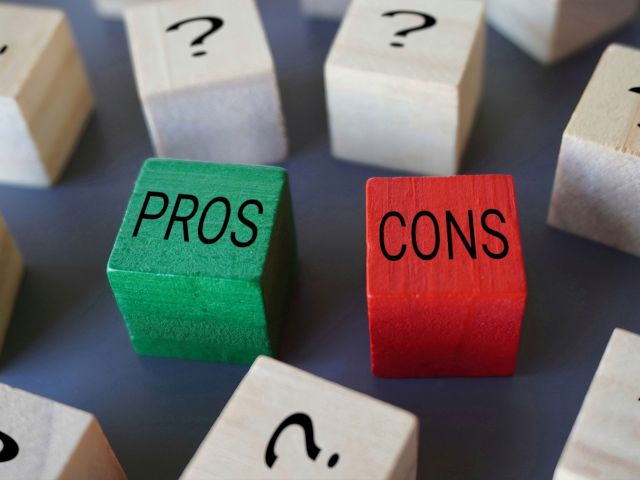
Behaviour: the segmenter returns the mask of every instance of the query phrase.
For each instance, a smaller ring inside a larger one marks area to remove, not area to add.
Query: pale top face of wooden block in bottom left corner
[[[15,458],[0,462],[1,478],[59,478],[94,421],[89,413],[4,384],[0,405],[0,430],[18,447]]]

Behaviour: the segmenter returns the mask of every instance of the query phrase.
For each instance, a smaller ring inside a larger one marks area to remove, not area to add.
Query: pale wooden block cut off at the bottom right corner
[[[613,332],[553,478],[640,478],[640,336]]]

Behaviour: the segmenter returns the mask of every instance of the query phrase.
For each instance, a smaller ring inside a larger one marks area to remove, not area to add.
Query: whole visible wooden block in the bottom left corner
[[[90,413],[3,384],[0,405],[0,478],[126,478]]]

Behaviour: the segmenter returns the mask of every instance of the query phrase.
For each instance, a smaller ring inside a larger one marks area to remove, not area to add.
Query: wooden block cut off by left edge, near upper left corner
[[[0,5],[0,182],[44,187],[64,169],[93,109],[59,10]]]

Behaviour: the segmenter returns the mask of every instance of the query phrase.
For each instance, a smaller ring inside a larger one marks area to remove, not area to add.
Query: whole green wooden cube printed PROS
[[[142,355],[274,355],[295,270],[282,168],[150,159],[107,275]]]

